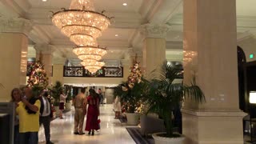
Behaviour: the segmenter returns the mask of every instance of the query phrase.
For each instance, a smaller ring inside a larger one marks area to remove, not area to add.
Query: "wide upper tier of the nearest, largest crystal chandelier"
[[[52,21],[63,34],[72,38],[98,38],[110,26],[110,18],[94,9],[92,0],[72,0],[70,9],[54,13]],[[70,39],[72,42],[76,39]]]

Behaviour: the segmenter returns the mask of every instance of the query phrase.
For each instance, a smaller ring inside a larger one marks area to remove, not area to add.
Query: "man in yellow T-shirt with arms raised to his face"
[[[16,112],[19,116],[19,143],[38,144],[40,101],[34,98],[32,90],[25,88],[22,102],[18,102]]]

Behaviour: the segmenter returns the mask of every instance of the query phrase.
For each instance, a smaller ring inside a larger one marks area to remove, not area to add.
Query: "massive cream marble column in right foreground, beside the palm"
[[[184,82],[196,77],[206,103],[186,101],[182,132],[188,144],[243,143],[238,102],[234,0],[184,0]]]

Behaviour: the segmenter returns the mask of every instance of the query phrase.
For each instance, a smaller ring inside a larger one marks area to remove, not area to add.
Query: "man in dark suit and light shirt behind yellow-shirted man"
[[[48,93],[45,92],[39,100],[41,102],[39,124],[40,126],[43,125],[45,129],[46,144],[53,144],[53,142],[50,142],[50,115],[52,114]]]

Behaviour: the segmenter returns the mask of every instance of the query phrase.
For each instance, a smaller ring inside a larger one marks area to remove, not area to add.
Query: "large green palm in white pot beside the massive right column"
[[[148,113],[157,113],[163,119],[166,126],[166,133],[153,134],[156,144],[183,143],[184,137],[173,131],[172,111],[180,107],[182,100],[190,98],[194,102],[206,102],[204,94],[193,78],[191,85],[174,83],[174,79],[182,73],[182,70],[164,62],[162,69],[154,70],[153,78],[150,81],[145,101],[149,106]]]

